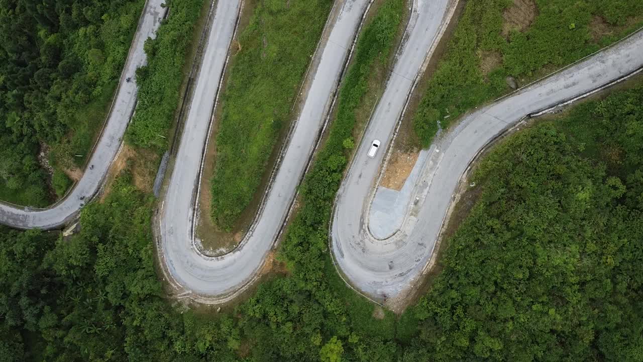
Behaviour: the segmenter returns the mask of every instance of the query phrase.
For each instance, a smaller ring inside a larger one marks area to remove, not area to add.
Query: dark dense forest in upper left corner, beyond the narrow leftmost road
[[[142,8],[141,0],[0,0],[1,200],[51,201],[41,144],[56,167],[82,165]],[[60,193],[68,182],[57,171]]]

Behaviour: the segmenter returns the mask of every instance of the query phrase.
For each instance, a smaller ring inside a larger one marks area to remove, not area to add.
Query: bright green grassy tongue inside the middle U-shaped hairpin
[[[261,1],[239,36],[221,95],[211,182],[211,214],[221,229],[231,229],[259,187],[331,6],[331,0]]]

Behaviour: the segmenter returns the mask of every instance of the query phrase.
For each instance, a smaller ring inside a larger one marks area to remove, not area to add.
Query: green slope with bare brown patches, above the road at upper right
[[[639,0],[469,0],[413,116],[428,146],[464,111],[643,25]]]

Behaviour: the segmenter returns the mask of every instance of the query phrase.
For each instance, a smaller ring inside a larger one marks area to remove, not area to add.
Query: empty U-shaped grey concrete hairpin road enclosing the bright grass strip
[[[203,303],[216,303],[233,298],[255,279],[293,202],[367,5],[367,0],[336,3],[325,31],[328,39],[320,44],[318,66],[311,70],[312,82],[303,92],[305,100],[300,117],[291,131],[281,166],[260,209],[260,217],[251,225],[239,247],[212,258],[201,254],[192,238],[193,197],[216,97],[215,88],[224,68],[239,1],[226,0],[217,4],[195,85],[195,97],[158,216],[159,258],[168,281],[179,292],[188,292]]]

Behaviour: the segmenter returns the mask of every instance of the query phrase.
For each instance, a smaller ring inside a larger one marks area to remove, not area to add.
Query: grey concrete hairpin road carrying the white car
[[[435,12],[439,9],[421,12],[417,23],[427,23],[422,18]],[[422,32],[422,37],[429,36],[417,39],[417,43],[413,40],[416,33],[412,33],[405,53],[426,49],[431,31]],[[431,146],[412,195],[407,198],[403,222],[395,233],[376,238],[369,231],[369,221],[374,220],[369,220],[368,215],[385,152],[368,158],[367,151],[374,138],[381,140],[382,146],[388,146],[401,111],[404,91],[398,89],[402,86],[389,84],[336,199],[331,247],[345,280],[376,300],[405,295],[404,292],[417,284],[430,260],[460,176],[487,142],[525,115],[574,99],[642,66],[643,32],[637,32],[607,50],[465,117]],[[410,74],[403,62],[396,65],[395,71],[407,77]],[[413,205],[415,197],[419,202]],[[381,218],[377,220],[382,222]],[[376,234],[390,233],[386,230]]]

